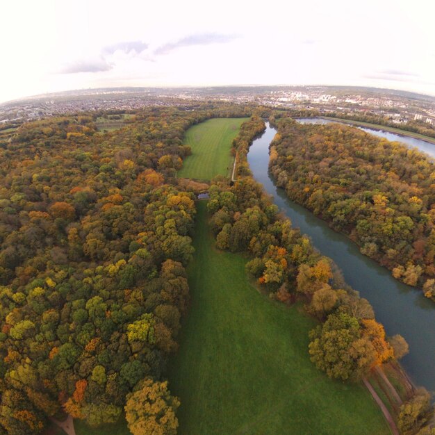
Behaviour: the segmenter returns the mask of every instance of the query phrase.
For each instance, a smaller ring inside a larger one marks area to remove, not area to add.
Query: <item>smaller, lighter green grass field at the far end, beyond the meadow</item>
[[[211,180],[216,175],[227,176],[233,169],[231,142],[240,126],[249,118],[215,118],[190,127],[184,145],[192,147],[192,155],[183,161],[178,176]]]

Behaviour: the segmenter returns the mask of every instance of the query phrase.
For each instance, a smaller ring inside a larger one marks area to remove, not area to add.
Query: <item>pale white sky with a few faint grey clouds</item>
[[[0,10],[0,102],[118,86],[435,95],[432,0],[14,0]]]

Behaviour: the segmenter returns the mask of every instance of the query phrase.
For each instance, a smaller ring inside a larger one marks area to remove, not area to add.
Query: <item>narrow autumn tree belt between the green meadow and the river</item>
[[[211,186],[208,209],[216,246],[254,256],[246,265],[247,273],[272,299],[287,304],[304,301],[306,310],[320,320],[310,333],[311,361],[331,378],[358,381],[376,366],[406,354],[407,345],[400,336],[386,340],[368,301],[343,282],[331,260],[316,252],[309,238],[278,215],[277,207],[249,176],[245,156],[253,137],[235,142],[238,174],[243,177],[233,186],[222,180]],[[432,413],[429,397],[424,389],[406,397],[419,405],[404,404],[398,410],[403,432],[417,432],[427,423]]]

